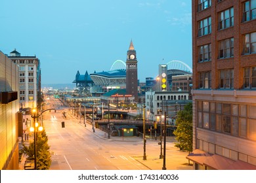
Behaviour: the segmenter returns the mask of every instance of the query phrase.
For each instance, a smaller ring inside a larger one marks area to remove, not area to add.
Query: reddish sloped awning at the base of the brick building
[[[218,154],[209,154],[202,150],[194,150],[192,153],[186,156],[187,159],[194,161],[200,165],[211,167],[211,169],[217,170],[256,170],[255,165],[251,165],[244,161],[234,161],[232,159],[224,158]]]

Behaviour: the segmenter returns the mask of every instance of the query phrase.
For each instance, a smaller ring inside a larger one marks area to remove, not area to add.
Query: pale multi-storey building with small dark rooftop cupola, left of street
[[[20,56],[16,50],[9,58],[19,66],[20,107],[35,108],[41,97],[40,61],[35,56]]]

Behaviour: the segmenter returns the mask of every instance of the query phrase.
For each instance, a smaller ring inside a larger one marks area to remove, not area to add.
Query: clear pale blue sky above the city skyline
[[[0,50],[36,56],[42,84],[69,84],[126,61],[132,40],[145,82],[169,61],[192,67],[191,20],[191,0],[1,0]]]

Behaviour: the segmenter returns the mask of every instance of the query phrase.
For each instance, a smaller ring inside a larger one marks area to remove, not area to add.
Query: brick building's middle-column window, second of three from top
[[[219,58],[234,57],[234,38],[219,42]]]

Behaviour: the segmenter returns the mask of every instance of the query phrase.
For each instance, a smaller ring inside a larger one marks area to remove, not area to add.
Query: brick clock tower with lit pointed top
[[[131,41],[126,59],[126,94],[133,95],[138,102],[138,67],[136,51]]]

